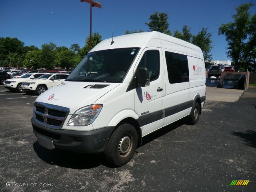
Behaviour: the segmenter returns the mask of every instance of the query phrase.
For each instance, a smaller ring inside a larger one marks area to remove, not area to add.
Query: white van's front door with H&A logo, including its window
[[[163,96],[164,69],[161,48],[147,48],[139,59],[136,68],[147,68],[150,77],[150,85],[135,89],[135,112],[142,122],[142,136],[145,136],[163,126]]]

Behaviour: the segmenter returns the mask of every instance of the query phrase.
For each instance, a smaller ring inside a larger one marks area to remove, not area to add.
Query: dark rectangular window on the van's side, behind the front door
[[[171,84],[189,82],[188,58],[186,55],[165,51],[168,79]]]

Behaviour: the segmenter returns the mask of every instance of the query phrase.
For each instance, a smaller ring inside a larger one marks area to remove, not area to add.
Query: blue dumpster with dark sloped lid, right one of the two
[[[223,77],[223,88],[238,89],[238,83],[243,78],[243,74],[227,73]]]

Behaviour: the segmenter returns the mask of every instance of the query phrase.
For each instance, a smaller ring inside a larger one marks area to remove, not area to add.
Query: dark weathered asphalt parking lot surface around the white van
[[[256,89],[210,100],[222,91],[207,87],[196,125],[179,120],[147,135],[116,168],[101,155],[41,147],[30,121],[37,97],[0,86],[0,191],[255,191]]]

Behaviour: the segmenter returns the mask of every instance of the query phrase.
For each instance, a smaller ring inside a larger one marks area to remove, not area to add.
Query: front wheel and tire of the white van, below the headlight
[[[130,124],[120,125],[111,135],[105,148],[106,160],[114,166],[128,163],[136,150],[138,135]]]

